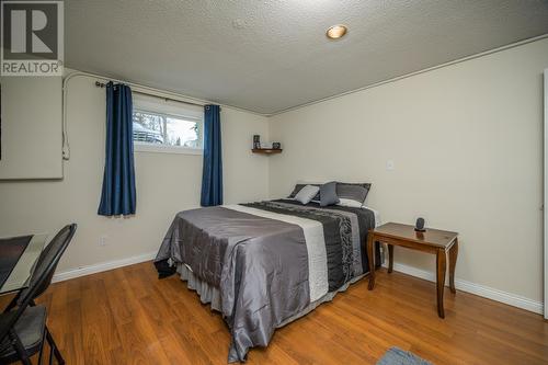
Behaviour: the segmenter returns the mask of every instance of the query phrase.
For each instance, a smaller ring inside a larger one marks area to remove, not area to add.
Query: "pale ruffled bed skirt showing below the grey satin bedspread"
[[[195,290],[198,294],[199,300],[203,304],[209,304],[212,309],[214,309],[218,312],[221,312],[222,305],[221,305],[220,290],[218,287],[202,281],[197,275],[195,275],[192,272],[192,270],[190,270],[184,264],[178,264],[176,272],[181,275],[181,280],[186,282],[186,286],[189,287],[189,289]],[[365,276],[367,276],[367,273],[352,278],[350,282],[344,284],[338,290],[328,293],[324,296],[322,296],[321,298],[319,298],[318,300],[310,303],[301,311],[286,318],[282,323],[276,326],[276,328],[284,327],[285,324],[290,323],[290,322],[299,319],[300,317],[308,315],[310,311],[315,310],[322,303],[333,300],[334,296],[338,293],[345,292],[351,284],[358,282],[359,280],[362,280]]]

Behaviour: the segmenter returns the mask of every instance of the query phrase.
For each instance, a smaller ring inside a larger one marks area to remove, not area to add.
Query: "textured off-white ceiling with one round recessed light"
[[[65,4],[68,67],[264,114],[548,33],[535,0]]]

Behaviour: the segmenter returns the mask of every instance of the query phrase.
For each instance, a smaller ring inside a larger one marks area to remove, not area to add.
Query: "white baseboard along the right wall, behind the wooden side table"
[[[383,265],[385,267],[388,266],[386,263]],[[400,263],[393,263],[393,270],[403,274],[408,274],[411,276],[420,277],[426,280],[429,282],[435,282],[436,276],[433,272],[424,271],[421,269],[416,269],[413,266],[408,266]],[[526,297],[523,297],[517,294],[506,293],[503,290],[494,289],[489,286],[475,284],[471,282],[467,282],[460,278],[455,278],[455,287],[459,290],[467,292],[470,294],[478,295],[483,298],[496,300],[500,303],[507,304],[513,307],[522,308],[528,311],[533,311],[535,313],[541,315],[544,312],[544,304],[541,301],[536,301]]]

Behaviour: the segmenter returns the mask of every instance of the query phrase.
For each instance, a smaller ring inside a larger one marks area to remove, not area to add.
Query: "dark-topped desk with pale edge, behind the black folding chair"
[[[24,289],[47,235],[0,238],[0,295]]]

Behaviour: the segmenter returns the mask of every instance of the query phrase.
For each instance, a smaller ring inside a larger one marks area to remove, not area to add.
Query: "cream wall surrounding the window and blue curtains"
[[[0,182],[0,236],[54,235],[76,221],[77,235],[58,272],[156,251],[176,212],[199,206],[202,156],[136,152],[137,214],[96,215],[104,162],[105,91],[94,79],[68,87],[70,160],[62,181]],[[267,196],[267,160],[250,151],[252,135],[267,138],[265,117],[222,107],[225,203]],[[99,238],[107,237],[100,247]]]

